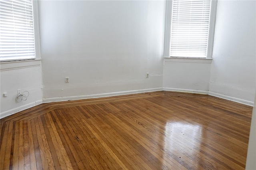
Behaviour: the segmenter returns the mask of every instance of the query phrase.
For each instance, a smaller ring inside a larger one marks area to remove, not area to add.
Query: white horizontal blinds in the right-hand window
[[[173,0],[170,56],[206,57],[211,0]]]

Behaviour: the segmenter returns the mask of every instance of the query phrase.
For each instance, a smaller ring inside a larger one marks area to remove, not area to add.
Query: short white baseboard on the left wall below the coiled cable
[[[43,101],[42,100],[38,100],[38,101],[34,101],[32,103],[28,103],[26,105],[23,105],[23,106],[20,106],[20,107],[16,107],[14,109],[10,109],[8,111],[4,111],[2,113],[0,113],[0,119],[4,118],[4,117],[7,117],[7,116],[10,116],[10,115],[13,115],[15,113],[18,113],[20,111],[24,111],[26,109],[29,109],[31,107],[34,107],[34,106],[37,106],[37,105],[40,105],[42,104]]]

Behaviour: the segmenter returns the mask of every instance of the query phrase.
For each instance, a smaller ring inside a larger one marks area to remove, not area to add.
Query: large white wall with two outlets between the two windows
[[[164,16],[165,1],[40,1],[44,99],[161,88]]]

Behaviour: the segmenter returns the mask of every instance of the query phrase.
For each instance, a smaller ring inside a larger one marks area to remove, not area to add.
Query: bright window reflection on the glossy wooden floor
[[[163,157],[172,162],[191,162],[201,161],[198,158],[198,149],[202,136],[202,126],[188,122],[167,122],[164,132]],[[194,140],[194,139],[197,140]],[[170,158],[171,157],[171,158]],[[198,158],[193,159],[192,158]]]

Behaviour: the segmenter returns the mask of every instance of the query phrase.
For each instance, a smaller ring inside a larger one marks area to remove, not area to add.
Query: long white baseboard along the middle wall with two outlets
[[[136,93],[146,93],[153,91],[162,91],[162,87],[152,88],[152,89],[141,89],[141,90],[130,90],[130,91],[119,91],[119,92],[111,92],[111,93],[100,93],[94,95],[81,95],[81,96],[69,96],[69,97],[52,97],[43,99],[43,103],[51,103],[58,101],[69,101],[69,100],[80,100],[80,99],[94,99],[100,97],[111,97],[111,96],[120,96],[120,95],[130,95]]]

